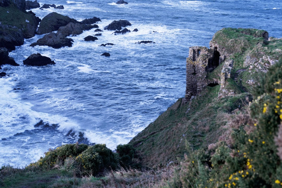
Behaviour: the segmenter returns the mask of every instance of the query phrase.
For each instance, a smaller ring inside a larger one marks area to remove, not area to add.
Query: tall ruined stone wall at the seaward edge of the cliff
[[[207,47],[190,47],[186,59],[186,94],[184,103],[196,96],[207,85],[209,50]]]

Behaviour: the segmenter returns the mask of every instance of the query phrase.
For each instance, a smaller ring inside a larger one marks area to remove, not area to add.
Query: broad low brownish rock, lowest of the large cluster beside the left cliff
[[[37,42],[32,43],[30,46],[49,46],[52,48],[71,47],[73,40],[65,37],[63,34],[55,34],[54,32],[45,35],[43,38],[38,39]]]

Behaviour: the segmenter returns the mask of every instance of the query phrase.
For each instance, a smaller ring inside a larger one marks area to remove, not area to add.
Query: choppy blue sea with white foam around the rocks
[[[49,148],[65,143],[106,143],[115,149],[185,94],[185,64],[190,46],[207,46],[223,27],[257,28],[282,37],[282,2],[258,0],[38,1],[65,9],[32,9],[41,19],[58,12],[81,21],[99,17],[103,29],[126,19],[138,32],[113,35],[104,30],[94,42],[54,49],[29,45],[10,52],[21,66],[3,66],[0,78],[0,166],[25,167]],[[155,31],[155,32],[153,32]],[[153,44],[135,44],[150,40]],[[114,43],[114,46],[98,46]],[[23,60],[41,53],[56,65],[28,67]],[[100,56],[109,52],[110,57]]]

